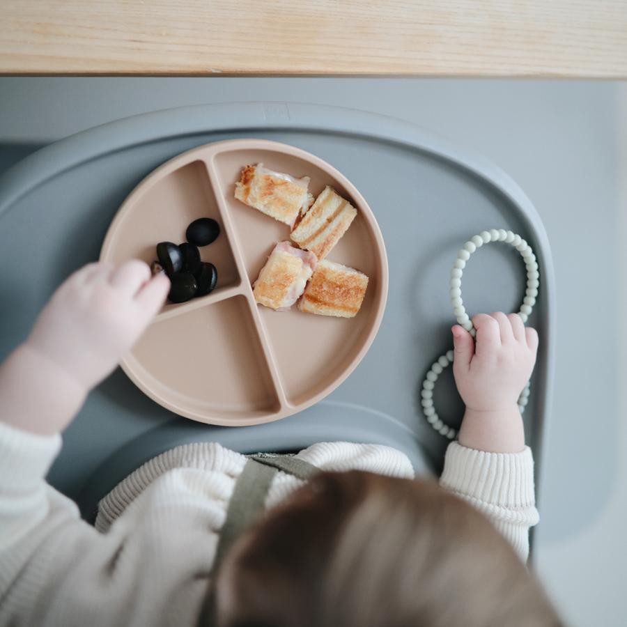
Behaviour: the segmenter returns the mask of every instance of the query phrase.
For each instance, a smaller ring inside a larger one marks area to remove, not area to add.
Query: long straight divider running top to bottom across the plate
[[[224,203],[224,189],[222,188],[222,184],[220,183],[219,176],[215,169],[215,164],[213,161],[216,154],[218,153],[212,153],[212,155],[209,158],[206,158],[204,162],[207,167],[209,179],[211,181],[211,187],[215,194],[217,208],[220,212],[220,217],[222,217],[222,225],[224,226],[224,231],[226,231],[226,237],[229,239],[229,244],[231,245],[231,252],[233,253],[233,258],[235,259],[235,266],[238,269],[238,273],[240,274],[241,284],[238,295],[245,296],[246,302],[248,303],[248,309],[255,325],[257,337],[259,339],[259,343],[261,343],[261,349],[263,351],[265,364],[266,366],[268,366],[268,370],[270,371],[272,385],[274,386],[274,394],[277,395],[277,399],[279,401],[280,407],[278,412],[283,412],[286,408],[290,406],[290,403],[288,403],[286,392],[283,383],[281,382],[281,376],[279,375],[279,369],[277,369],[277,362],[274,359],[274,355],[272,354],[272,347],[270,346],[268,334],[261,320],[261,314],[259,314],[257,303],[253,296],[252,287],[248,279],[246,263],[240,249],[240,242],[237,235],[235,235],[235,228],[233,227],[233,223],[231,222],[231,217],[229,217],[229,210],[226,208],[226,205]]]

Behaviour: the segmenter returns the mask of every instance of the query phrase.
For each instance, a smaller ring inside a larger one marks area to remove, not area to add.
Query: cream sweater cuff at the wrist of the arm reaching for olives
[[[37,483],[61,449],[61,435],[37,435],[0,422],[0,485],[8,490]]]

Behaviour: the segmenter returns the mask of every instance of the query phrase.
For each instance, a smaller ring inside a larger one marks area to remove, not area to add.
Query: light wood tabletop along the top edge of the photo
[[[0,0],[0,73],[627,77],[627,0]]]

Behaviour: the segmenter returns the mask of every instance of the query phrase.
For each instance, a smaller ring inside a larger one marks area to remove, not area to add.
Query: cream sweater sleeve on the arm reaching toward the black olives
[[[215,473],[164,474],[101,534],[45,481],[60,447],[0,423],[0,626],[194,624],[224,518]]]

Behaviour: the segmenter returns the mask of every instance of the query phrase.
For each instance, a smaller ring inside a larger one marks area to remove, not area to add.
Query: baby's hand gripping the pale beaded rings
[[[476,343],[463,327],[452,329],[453,373],[466,408],[477,412],[516,408],[536,362],[538,334],[518,314],[479,314],[472,318]]]

